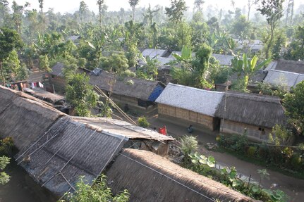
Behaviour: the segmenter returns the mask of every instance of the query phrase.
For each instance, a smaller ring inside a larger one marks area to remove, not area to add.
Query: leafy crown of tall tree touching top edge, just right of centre
[[[184,0],[171,0],[171,6],[166,7],[165,11],[169,20],[174,23],[179,23],[183,18],[183,13],[187,11],[186,2]]]

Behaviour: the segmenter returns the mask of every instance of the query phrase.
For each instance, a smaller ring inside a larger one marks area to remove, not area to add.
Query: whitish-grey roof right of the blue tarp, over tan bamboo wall
[[[223,95],[223,92],[169,83],[156,102],[214,117]]]

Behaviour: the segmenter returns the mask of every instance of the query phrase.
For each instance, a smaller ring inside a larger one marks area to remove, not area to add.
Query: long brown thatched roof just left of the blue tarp
[[[128,83],[130,80],[133,84]],[[156,87],[164,88],[164,84],[161,82],[129,77],[121,79],[106,71],[102,71],[99,76],[90,75],[90,84],[97,85],[97,87],[105,91],[112,91],[116,95],[129,96],[142,100],[149,100],[152,91],[154,91]]]

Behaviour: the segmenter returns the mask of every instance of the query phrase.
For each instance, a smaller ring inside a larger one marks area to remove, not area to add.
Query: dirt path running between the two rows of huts
[[[166,128],[169,132],[169,135],[172,137],[181,137],[184,134],[187,134],[187,122],[169,122],[169,120],[164,120],[158,118],[157,115],[152,115],[148,118],[148,121],[151,124],[151,127],[163,127],[166,125]],[[211,132],[204,128],[195,127],[195,131],[193,132],[193,136],[197,136],[197,140],[200,144],[200,151],[207,156],[214,156],[217,159],[217,162],[221,166],[235,166],[236,170],[238,170],[238,174],[245,175],[249,177],[251,175],[252,179],[256,182],[260,181],[260,175],[257,173],[258,169],[267,169],[263,168],[259,165],[254,165],[253,163],[248,163],[243,160],[240,160],[234,156],[231,156],[227,153],[219,153],[214,151],[208,151],[205,149],[205,146],[202,146],[206,143],[214,143],[215,137],[218,133]],[[304,201],[304,180],[296,179],[293,177],[288,177],[279,172],[274,172],[272,170],[267,169],[269,172],[269,179],[262,180],[262,186],[266,189],[281,189],[288,196],[290,196],[289,201],[301,202]]]

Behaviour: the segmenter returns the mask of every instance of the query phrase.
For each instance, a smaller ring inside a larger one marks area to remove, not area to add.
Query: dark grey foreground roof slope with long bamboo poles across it
[[[21,150],[17,161],[39,184],[62,196],[73,191],[80,176],[92,184],[127,140],[62,118],[30,149]]]

